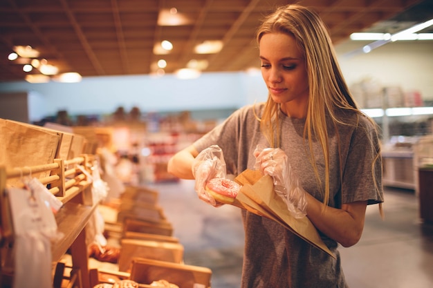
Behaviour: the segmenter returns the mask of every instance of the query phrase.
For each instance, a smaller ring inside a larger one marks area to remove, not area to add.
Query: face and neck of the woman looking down
[[[280,104],[286,115],[306,117],[308,79],[302,51],[295,37],[284,33],[268,33],[259,43],[261,75],[270,97]]]

